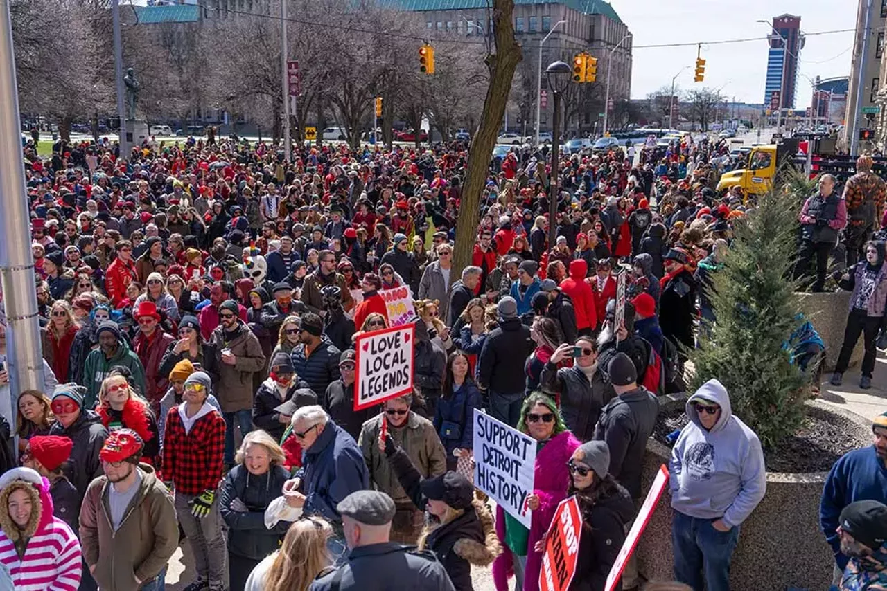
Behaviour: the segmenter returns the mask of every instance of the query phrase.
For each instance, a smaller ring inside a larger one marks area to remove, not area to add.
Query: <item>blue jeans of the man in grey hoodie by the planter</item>
[[[694,591],[730,591],[730,557],[739,541],[739,527],[718,532],[717,519],[699,519],[674,511],[671,544],[674,578]]]

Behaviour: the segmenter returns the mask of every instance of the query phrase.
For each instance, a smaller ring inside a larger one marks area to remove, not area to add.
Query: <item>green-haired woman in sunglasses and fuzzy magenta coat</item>
[[[580,442],[567,430],[554,400],[541,392],[524,401],[517,429],[537,441],[533,493],[524,501],[525,509],[532,511],[532,521],[528,530],[498,505],[496,533],[505,550],[493,563],[493,581],[498,591],[506,591],[513,571],[517,589],[538,591],[542,555],[534,548],[548,531],[558,503],[567,498],[567,461]]]

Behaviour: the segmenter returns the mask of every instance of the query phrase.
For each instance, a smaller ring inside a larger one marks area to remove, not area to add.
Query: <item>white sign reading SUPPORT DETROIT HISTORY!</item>
[[[530,527],[527,496],[533,493],[536,439],[475,408],[475,486]]]

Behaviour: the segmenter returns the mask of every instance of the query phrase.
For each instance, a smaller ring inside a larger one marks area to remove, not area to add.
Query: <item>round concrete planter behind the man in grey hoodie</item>
[[[838,415],[857,425],[860,440],[870,437],[871,423],[851,412],[812,401],[810,414]],[[675,397],[660,402],[663,412],[683,408]],[[654,439],[647,445],[643,486],[647,490],[671,448]],[[788,587],[828,589],[833,557],[820,532],[819,510],[827,472],[809,474],[767,473],[764,500],[742,524],[730,571],[733,591],[778,590]],[[672,580],[671,495],[666,489],[647,530],[640,536],[638,568],[648,580]]]

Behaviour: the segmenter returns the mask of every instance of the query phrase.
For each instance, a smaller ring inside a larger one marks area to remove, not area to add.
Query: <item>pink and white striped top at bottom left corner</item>
[[[76,591],[80,586],[80,542],[58,517],[42,523],[27,540],[19,558],[6,533],[0,530],[0,563],[12,574],[15,591]]]

